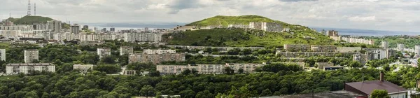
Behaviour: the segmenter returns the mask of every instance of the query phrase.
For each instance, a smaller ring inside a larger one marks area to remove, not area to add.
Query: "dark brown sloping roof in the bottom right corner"
[[[356,82],[356,83],[346,83],[346,85],[349,85],[350,87],[353,87],[365,94],[372,94],[373,90],[386,90],[388,91],[388,93],[402,92],[402,91],[407,90],[403,87],[395,85],[386,80],[384,81],[373,80],[373,81],[364,81],[364,82]]]

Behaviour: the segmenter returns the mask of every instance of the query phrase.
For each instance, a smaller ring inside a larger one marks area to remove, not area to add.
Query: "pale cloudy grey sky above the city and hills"
[[[215,15],[261,15],[309,27],[420,30],[420,0],[31,0],[32,8],[34,3],[36,15],[71,23],[189,23]],[[0,0],[0,18],[25,16],[27,4]]]

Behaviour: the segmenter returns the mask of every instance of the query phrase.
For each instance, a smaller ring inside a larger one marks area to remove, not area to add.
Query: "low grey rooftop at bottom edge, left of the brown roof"
[[[318,92],[314,93],[314,98],[353,98],[361,97],[363,94],[357,94],[345,90],[332,91],[332,92]],[[260,98],[312,98],[312,93],[309,94],[294,94],[284,96],[260,97]]]

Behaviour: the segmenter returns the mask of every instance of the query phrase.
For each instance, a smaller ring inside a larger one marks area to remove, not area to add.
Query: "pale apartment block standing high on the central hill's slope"
[[[249,22],[249,28],[269,32],[281,32],[283,27],[274,22]]]

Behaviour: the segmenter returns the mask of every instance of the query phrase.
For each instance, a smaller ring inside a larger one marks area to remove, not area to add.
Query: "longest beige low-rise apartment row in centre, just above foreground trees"
[[[158,65],[156,70],[162,74],[179,74],[186,69],[198,71],[204,74],[219,74],[223,73],[226,67],[230,67],[237,73],[239,69],[244,69],[244,73],[253,73],[256,68],[264,66],[265,64],[188,64],[188,65]]]

